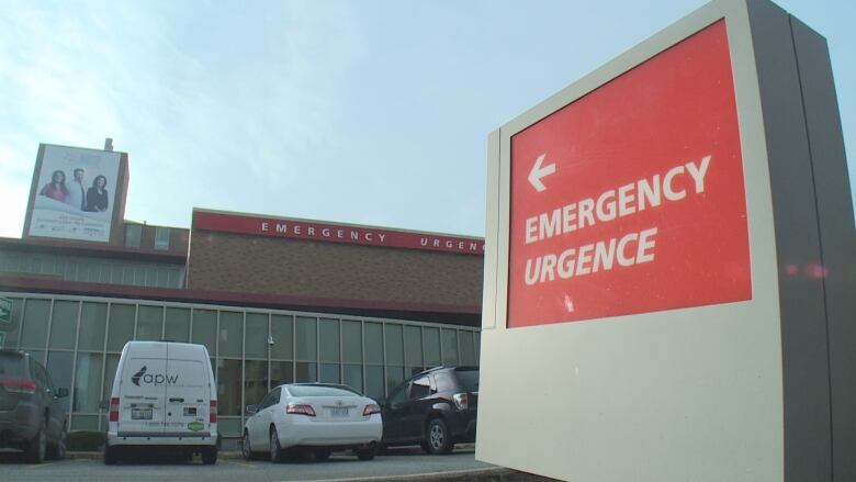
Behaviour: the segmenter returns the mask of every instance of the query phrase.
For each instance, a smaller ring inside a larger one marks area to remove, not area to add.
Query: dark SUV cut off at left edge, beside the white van
[[[35,463],[45,456],[65,457],[64,396],[68,390],[55,390],[45,367],[30,354],[0,350],[0,448],[24,450]]]

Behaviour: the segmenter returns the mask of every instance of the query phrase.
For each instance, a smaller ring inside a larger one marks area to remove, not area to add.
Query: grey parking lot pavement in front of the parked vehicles
[[[473,448],[457,449],[448,456],[428,456],[418,448],[388,449],[371,461],[359,461],[348,453],[334,453],[327,461],[303,459],[282,464],[245,461],[224,457],[216,466],[203,466],[196,458],[184,461],[136,461],[104,466],[101,458],[74,458],[31,464],[20,453],[0,453],[2,481],[342,481],[342,480],[487,480],[522,481],[515,473],[475,460]]]

